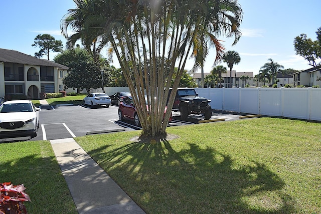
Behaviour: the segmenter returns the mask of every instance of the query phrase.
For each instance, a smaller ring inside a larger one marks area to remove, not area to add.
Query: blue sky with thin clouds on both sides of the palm
[[[60,21],[69,9],[74,9],[72,0],[1,0],[2,28],[0,48],[16,50],[34,56],[39,48],[32,47],[38,34],[50,34],[66,40],[60,33]],[[239,0],[244,12],[241,24],[242,37],[235,46],[232,39],[221,38],[226,51],[237,51],[241,62],[233,67],[237,72],[257,74],[268,58],[283,65],[285,69],[310,68],[307,61],[295,55],[293,41],[304,33],[316,40],[316,30],[321,27],[320,0]],[[50,54],[53,60],[56,53]],[[44,56],[43,58],[46,58]],[[206,58],[205,72],[210,72],[215,59],[214,50]],[[227,67],[226,64],[222,63]],[[119,67],[118,63],[114,63]],[[186,69],[192,68],[190,62]]]

